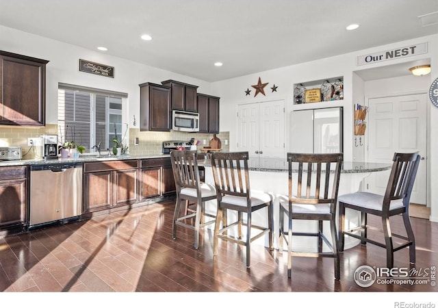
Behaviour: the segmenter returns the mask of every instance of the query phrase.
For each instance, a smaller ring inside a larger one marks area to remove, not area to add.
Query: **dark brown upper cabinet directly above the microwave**
[[[198,86],[184,84],[183,82],[175,80],[162,81],[162,84],[170,87],[172,110],[198,112],[198,104],[196,101]]]

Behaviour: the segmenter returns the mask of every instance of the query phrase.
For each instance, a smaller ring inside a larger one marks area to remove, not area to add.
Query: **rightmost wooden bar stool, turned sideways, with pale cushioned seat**
[[[418,153],[394,153],[391,174],[387,183],[385,195],[372,192],[354,192],[339,196],[339,249],[344,251],[344,238],[349,235],[386,249],[387,268],[394,267],[394,252],[409,247],[409,261],[415,264],[415,238],[413,235],[411,220],[409,219],[409,200],[415,175],[417,174],[420,155]],[[359,227],[345,229],[345,209],[354,209],[361,212],[361,224]],[[367,224],[367,216],[372,214],[382,220],[382,229]],[[407,236],[391,232],[389,218],[394,215],[402,215],[404,228]],[[368,238],[368,229],[383,234],[379,242]],[[394,246],[393,238],[399,238],[402,243]]]

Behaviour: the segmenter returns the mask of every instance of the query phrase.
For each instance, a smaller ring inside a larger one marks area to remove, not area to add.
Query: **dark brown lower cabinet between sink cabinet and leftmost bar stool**
[[[170,158],[142,159],[140,201],[176,192]]]

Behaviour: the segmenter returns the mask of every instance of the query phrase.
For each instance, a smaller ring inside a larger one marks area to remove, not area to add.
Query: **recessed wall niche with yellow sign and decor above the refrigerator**
[[[344,77],[331,77],[294,84],[294,105],[334,103],[344,99]],[[331,105],[332,106],[332,105]],[[307,109],[303,107],[303,109]],[[312,108],[316,106],[313,105]]]

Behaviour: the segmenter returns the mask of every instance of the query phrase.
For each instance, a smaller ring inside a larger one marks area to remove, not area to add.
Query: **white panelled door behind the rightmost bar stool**
[[[418,151],[426,157],[426,94],[368,101],[368,161],[391,162],[394,153]],[[376,172],[380,174],[381,172]],[[385,193],[389,172],[371,177],[369,190]],[[426,204],[426,160],[420,161],[411,203]]]

